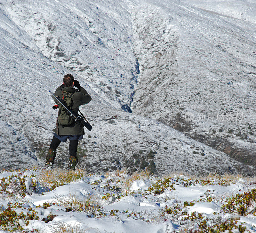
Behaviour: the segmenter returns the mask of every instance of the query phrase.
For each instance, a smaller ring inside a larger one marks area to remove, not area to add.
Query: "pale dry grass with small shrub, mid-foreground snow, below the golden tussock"
[[[72,208],[78,212],[86,212],[91,215],[102,209],[101,204],[96,197],[89,196],[83,200],[79,200],[76,197],[76,193],[69,193],[68,196],[60,195],[52,198],[52,202],[58,206],[64,206],[66,208]]]

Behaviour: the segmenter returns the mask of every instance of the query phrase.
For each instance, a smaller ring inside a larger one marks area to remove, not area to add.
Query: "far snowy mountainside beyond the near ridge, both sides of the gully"
[[[253,1],[6,3],[44,55],[90,81],[112,106],[256,163]],[[212,12],[220,9],[223,16]],[[225,17],[243,9],[248,17]],[[186,113],[199,120],[187,122]]]

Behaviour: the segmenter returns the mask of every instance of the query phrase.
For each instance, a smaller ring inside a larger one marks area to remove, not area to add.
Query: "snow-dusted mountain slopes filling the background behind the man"
[[[251,21],[182,1],[4,0],[0,38],[2,167],[44,163],[56,116],[48,90],[71,72],[92,95],[81,110],[93,130],[78,147],[89,171],[255,172],[200,143],[255,162]],[[242,122],[187,123],[182,115],[242,110]],[[66,164],[68,144],[58,154]]]

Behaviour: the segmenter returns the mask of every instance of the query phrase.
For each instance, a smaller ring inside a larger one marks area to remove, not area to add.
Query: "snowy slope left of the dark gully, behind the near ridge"
[[[130,111],[139,68],[130,49],[132,20],[123,4],[8,1],[6,8],[43,55],[92,82],[114,107]]]

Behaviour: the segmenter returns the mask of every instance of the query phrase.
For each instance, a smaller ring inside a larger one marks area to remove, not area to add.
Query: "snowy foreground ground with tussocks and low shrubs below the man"
[[[10,187],[7,185],[9,193],[3,191],[2,178],[7,177],[4,181],[9,184],[10,178],[8,177],[12,174],[20,177],[27,175],[25,184],[28,192],[25,197],[20,198],[17,192],[13,192],[15,185]],[[232,231],[228,232],[242,232],[235,229],[239,225],[245,227],[244,233],[256,232],[255,209],[250,214],[248,214],[248,209],[244,216],[235,212],[225,213],[221,209],[230,197],[254,188],[255,180],[253,179],[232,177],[227,174],[226,176],[212,174],[205,178],[172,174],[162,178],[162,181],[167,181],[165,182],[166,188],[159,185],[163,189],[155,193],[154,185],[159,182],[160,178],[147,178],[140,174],[140,177],[136,179],[134,175],[129,176],[125,171],[119,171],[98,175],[84,174],[84,177],[76,182],[63,183],[50,191],[42,185],[42,182],[46,181],[46,179],[42,180],[42,175],[46,174],[47,172],[38,170],[4,171],[0,174],[2,179],[0,191],[3,191],[0,194],[0,205],[2,205],[0,229],[3,231],[0,232],[12,230],[15,226],[28,229],[29,232],[33,229],[40,232],[53,232],[53,228],[56,229],[54,232],[60,232],[56,223],[59,226],[60,223],[70,225],[73,230],[78,224],[80,231],[77,232],[85,232],[86,229],[86,232],[123,233],[198,232],[198,230],[206,232],[204,225],[200,225],[204,221],[209,229],[211,226],[212,229],[223,226],[222,222],[224,222],[226,226],[234,224]],[[41,184],[38,183],[40,176]],[[167,178],[169,179],[166,180]],[[51,180],[57,180],[57,177],[53,175]],[[130,182],[127,183],[129,180]],[[31,182],[35,184],[37,182],[33,193],[29,191],[29,188],[32,190]],[[8,195],[10,196],[11,193],[13,195],[10,198]],[[93,200],[90,210],[88,206],[81,204],[88,199]],[[77,202],[80,203],[79,207],[76,206]],[[99,204],[97,208],[93,208],[97,203]],[[247,207],[253,209],[255,202],[251,202]],[[11,224],[4,226],[4,216],[11,210],[17,214],[24,213],[25,217],[23,216],[20,220],[13,217],[14,226]],[[34,216],[32,216],[33,213]],[[29,223],[26,220],[28,214],[30,214]]]

